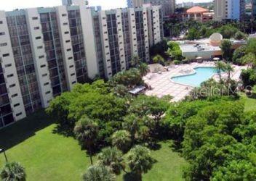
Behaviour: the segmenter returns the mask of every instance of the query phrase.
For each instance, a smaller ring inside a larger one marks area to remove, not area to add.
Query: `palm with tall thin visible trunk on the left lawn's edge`
[[[79,122],[76,122],[73,132],[81,145],[87,146],[89,149],[89,158],[92,164],[92,146],[97,138],[97,123],[88,117],[82,117]]]

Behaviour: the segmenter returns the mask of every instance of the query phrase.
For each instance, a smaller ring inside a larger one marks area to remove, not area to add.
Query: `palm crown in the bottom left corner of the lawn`
[[[4,165],[0,174],[1,180],[5,181],[25,181],[25,169],[17,162],[10,162]]]

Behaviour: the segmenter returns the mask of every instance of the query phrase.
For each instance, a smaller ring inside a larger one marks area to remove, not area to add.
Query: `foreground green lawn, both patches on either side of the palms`
[[[9,161],[19,161],[26,169],[28,180],[81,180],[89,167],[89,157],[81,151],[78,142],[56,133],[56,125],[43,111],[0,130],[0,148],[6,148]],[[161,148],[152,151],[156,164],[143,180],[182,180],[185,164],[172,151],[171,141],[161,142]],[[4,165],[0,155],[0,167]],[[118,180],[123,180],[122,175]]]

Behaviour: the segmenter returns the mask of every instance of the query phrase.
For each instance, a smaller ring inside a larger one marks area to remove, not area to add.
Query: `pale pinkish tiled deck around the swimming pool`
[[[184,71],[193,70],[196,67],[215,67],[214,62],[204,62],[204,63],[192,63],[192,64],[181,64],[169,69],[168,72],[159,73],[148,73],[143,80],[145,83],[151,86],[152,90],[146,90],[145,94],[148,96],[162,96],[170,95],[172,96],[172,101],[181,101],[185,96],[193,90],[192,86],[183,85],[180,83],[175,83],[171,80],[171,77],[187,75],[189,73],[184,73]],[[239,80],[241,75],[241,70],[246,69],[247,67],[241,67],[233,65],[234,71],[231,73],[231,78],[233,80]],[[191,72],[193,73],[193,72]],[[148,77],[151,77],[150,79]],[[227,77],[226,73],[223,73],[223,77]],[[214,75],[215,80],[218,79],[217,75]]]

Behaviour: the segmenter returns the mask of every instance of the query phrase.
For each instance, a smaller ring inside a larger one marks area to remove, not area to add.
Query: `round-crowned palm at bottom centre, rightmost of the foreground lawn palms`
[[[127,161],[129,168],[136,174],[138,180],[142,180],[142,174],[147,173],[154,163],[151,152],[144,146],[132,148],[127,155]]]

